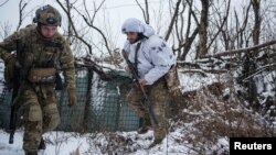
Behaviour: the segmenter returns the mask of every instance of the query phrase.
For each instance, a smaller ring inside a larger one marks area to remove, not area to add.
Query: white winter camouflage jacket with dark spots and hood
[[[142,34],[148,38],[142,38],[134,44],[125,42],[124,51],[128,54],[128,59],[135,63],[135,53],[138,43],[138,76],[147,80],[147,85],[152,85],[164,76],[171,66],[176,65],[177,58],[172,49],[164,40],[155,34],[150,25],[144,24]]]

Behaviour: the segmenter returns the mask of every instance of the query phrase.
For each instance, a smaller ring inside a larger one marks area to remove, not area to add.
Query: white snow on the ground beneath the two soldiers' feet
[[[183,155],[188,153],[189,148],[176,141],[181,137],[181,130],[177,130],[167,134],[167,137],[160,145],[156,145],[148,150],[147,147],[152,142],[153,132],[149,131],[146,134],[137,134],[137,132],[116,132],[116,134],[126,137],[131,143],[134,153],[127,153],[129,155]],[[96,135],[96,136],[93,136]],[[14,134],[14,144],[9,144],[9,133],[0,130],[0,154],[1,155],[24,155],[22,150],[22,136],[23,131],[17,131]],[[40,151],[39,155],[70,155],[77,148],[81,154],[105,155],[108,154],[108,150],[100,150],[97,147],[100,145],[108,145],[110,141],[107,141],[107,136],[103,133],[66,133],[53,131],[43,135],[46,141],[46,150]],[[123,142],[118,142],[123,143]],[[131,150],[131,148],[130,148]]]

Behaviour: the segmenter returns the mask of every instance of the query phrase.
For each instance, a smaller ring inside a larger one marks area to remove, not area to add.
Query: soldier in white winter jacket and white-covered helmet
[[[153,128],[155,141],[151,146],[160,143],[166,136],[166,107],[169,102],[169,89],[164,75],[176,65],[176,56],[167,43],[155,35],[153,29],[141,23],[137,19],[128,19],[121,27],[127,35],[123,56],[128,58],[137,68],[140,77],[139,84],[145,87],[152,104],[153,114],[158,124],[149,117],[147,108],[141,103],[142,93],[134,86],[127,95],[129,107],[144,119],[138,133],[146,133],[150,126]],[[129,67],[125,68],[129,73]]]

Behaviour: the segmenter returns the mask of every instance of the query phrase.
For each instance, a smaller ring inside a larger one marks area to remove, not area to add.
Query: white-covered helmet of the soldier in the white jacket
[[[127,19],[121,26],[123,33],[127,33],[127,32],[144,33],[144,31],[145,31],[145,27],[144,27],[141,21],[139,21],[135,18]]]

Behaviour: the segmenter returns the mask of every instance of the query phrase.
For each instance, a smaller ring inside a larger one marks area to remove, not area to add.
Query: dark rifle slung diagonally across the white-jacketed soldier
[[[125,57],[125,56],[124,56],[124,57]],[[155,112],[153,112],[151,102],[150,102],[150,100],[149,100],[149,98],[148,98],[148,95],[146,93],[146,91],[145,91],[145,89],[144,89],[144,86],[141,86],[141,85],[139,84],[139,76],[138,76],[138,74],[137,74],[136,67],[134,66],[134,64],[132,64],[127,57],[125,57],[125,59],[126,59],[126,62],[127,62],[127,64],[128,64],[128,66],[129,66],[129,69],[130,69],[130,71],[131,71],[131,74],[132,74],[134,81],[136,82],[136,85],[138,86],[138,88],[139,88],[139,89],[141,90],[141,92],[142,92],[142,96],[144,96],[144,103],[145,103],[145,106],[148,108],[149,115],[150,115],[150,118],[152,119],[153,123],[155,123],[156,125],[158,125],[158,121],[157,121],[156,114],[155,114]]]

